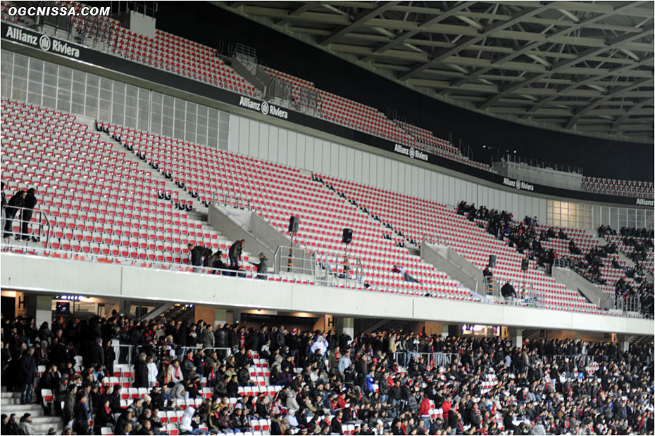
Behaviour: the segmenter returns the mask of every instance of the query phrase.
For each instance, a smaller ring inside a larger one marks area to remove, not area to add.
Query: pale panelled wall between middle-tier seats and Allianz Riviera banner
[[[250,113],[244,116],[211,107],[211,103],[189,101],[175,96],[172,89],[155,90],[156,84],[137,86],[4,49],[0,56],[2,98],[27,101],[89,120],[109,121],[447,205],[466,200],[510,210],[519,219],[528,214],[547,224],[590,230],[599,224],[652,227],[652,210],[516,193],[515,189],[496,188],[497,184],[356,141],[339,143],[334,135],[299,130],[289,122],[264,122]]]

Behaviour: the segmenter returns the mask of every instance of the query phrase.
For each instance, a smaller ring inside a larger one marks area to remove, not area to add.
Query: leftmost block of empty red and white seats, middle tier
[[[187,263],[189,242],[229,247],[216,231],[158,199],[163,181],[73,115],[13,101],[1,108],[3,181],[10,195],[37,189],[37,208],[51,224],[50,248],[150,266]]]

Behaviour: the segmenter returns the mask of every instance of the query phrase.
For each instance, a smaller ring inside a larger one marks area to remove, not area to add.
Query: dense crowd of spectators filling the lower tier
[[[149,389],[127,408],[120,406],[123,388],[104,384],[115,362],[126,358],[113,352],[118,340],[137,356],[132,386]],[[239,324],[214,330],[203,321],[135,324],[116,314],[58,319],[38,329],[30,319],[3,319],[2,342],[2,382],[24,390],[33,381],[30,371],[45,365],[37,395],[53,390],[55,412],[78,434],[99,434],[104,426],[116,435],[165,434],[158,412],[199,397],[201,380],[211,398],[187,406],[181,434],[245,432],[251,418],[270,419],[272,435],[343,434],[349,423],[356,435],[654,431],[653,348],[637,343],[628,352],[616,343],[573,340],[525,340],[516,348],[498,337],[378,332],[350,338]],[[239,386],[251,383],[255,354],[268,360],[269,383],[281,386],[275,397],[238,395]],[[483,387],[489,376],[496,382]],[[430,418],[430,401],[443,410],[439,418]]]

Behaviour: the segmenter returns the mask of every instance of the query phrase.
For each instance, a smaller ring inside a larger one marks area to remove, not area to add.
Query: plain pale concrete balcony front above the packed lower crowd
[[[356,316],[652,335],[653,321],[2,253],[3,290]],[[39,271],[34,274],[33,271]],[[238,289],[238,292],[235,292]]]

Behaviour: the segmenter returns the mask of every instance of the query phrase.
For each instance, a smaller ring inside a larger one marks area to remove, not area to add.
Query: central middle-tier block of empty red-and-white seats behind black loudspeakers
[[[317,257],[342,253],[342,229],[352,228],[354,241],[349,245],[349,256],[361,259],[363,281],[370,289],[410,295],[432,291],[456,299],[470,298],[459,282],[384,238],[389,233],[385,226],[314,181],[307,172],[134,129],[113,125],[108,129],[125,137],[135,153],[145,155],[161,172],[182,181],[187,191],[197,193],[201,200],[220,202],[224,196],[248,199],[252,210],[287,236],[289,217],[299,217],[301,228],[294,241]],[[404,281],[401,274],[392,272],[394,264],[421,283]],[[342,267],[334,272],[343,274]],[[363,286],[349,283],[344,286]]]

